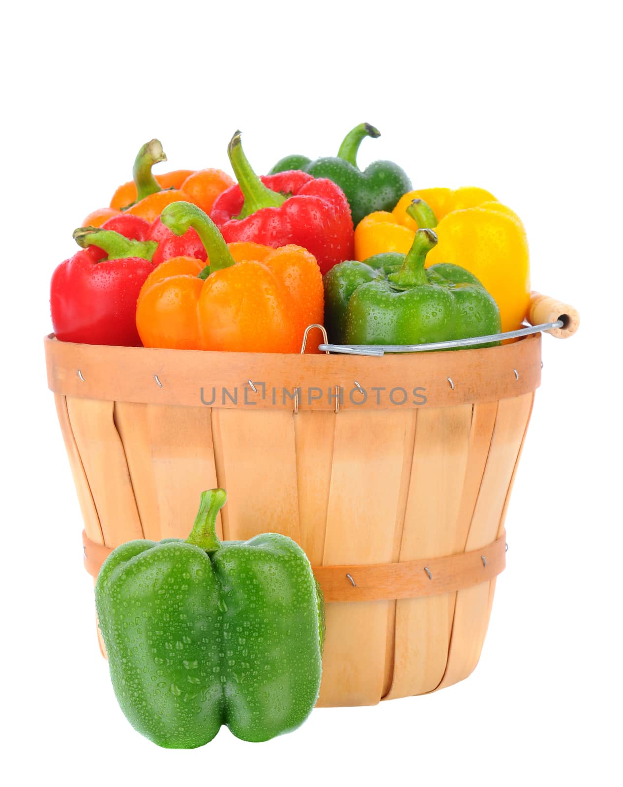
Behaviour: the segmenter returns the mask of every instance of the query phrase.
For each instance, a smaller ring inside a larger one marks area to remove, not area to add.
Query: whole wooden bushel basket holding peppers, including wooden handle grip
[[[570,312],[552,304],[535,297],[530,321]],[[222,486],[220,538],[277,531],[315,568],[319,706],[463,680],[504,566],[540,342],[379,358],[46,338],[87,570],[124,541],[186,538],[201,491]]]

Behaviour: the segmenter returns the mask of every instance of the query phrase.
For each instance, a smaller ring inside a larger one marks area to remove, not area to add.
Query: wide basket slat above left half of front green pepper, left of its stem
[[[201,492],[217,486],[209,408],[116,402],[115,420],[145,537],[187,538]]]

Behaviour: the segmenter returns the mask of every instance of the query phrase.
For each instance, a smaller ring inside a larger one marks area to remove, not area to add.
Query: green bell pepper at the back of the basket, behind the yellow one
[[[351,206],[352,224],[357,224],[375,210],[393,210],[397,201],[411,190],[411,180],[393,161],[374,161],[363,172],[357,166],[357,152],[364,137],[380,136],[374,126],[359,124],[349,131],[341,143],[337,157],[318,158],[311,161],[306,156],[286,156],[269,172],[286,172],[302,169],[315,178],[328,178],[346,194]]]

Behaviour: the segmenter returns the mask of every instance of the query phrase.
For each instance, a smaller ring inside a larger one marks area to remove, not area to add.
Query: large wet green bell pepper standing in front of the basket
[[[294,730],[318,697],[323,600],[309,560],[275,533],[219,541],[223,490],[201,494],[186,541],[129,541],[101,567],[99,625],[117,700],[165,748],[222,724],[244,741]]]

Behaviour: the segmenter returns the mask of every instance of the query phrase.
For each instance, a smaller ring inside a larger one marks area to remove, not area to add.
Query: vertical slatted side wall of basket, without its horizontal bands
[[[337,565],[495,541],[533,396],[294,416],[57,394],[57,410],[91,540],[186,538],[199,494],[218,485],[229,495],[221,538],[276,530],[312,564]],[[327,604],[319,705],[376,704],[466,678],[494,589]]]

